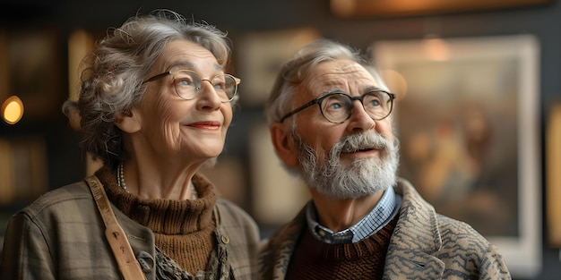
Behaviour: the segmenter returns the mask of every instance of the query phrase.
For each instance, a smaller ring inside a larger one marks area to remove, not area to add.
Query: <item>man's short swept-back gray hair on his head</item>
[[[381,87],[387,89],[375,66],[367,58],[361,56],[358,50],[329,39],[318,39],[301,47],[298,53],[283,65],[272,87],[271,95],[265,104],[267,123],[280,122],[280,118],[291,110],[293,95],[296,93],[298,85],[306,79],[306,76],[317,64],[338,59],[361,64],[372,74]],[[295,128],[295,125],[293,119],[292,129]]]

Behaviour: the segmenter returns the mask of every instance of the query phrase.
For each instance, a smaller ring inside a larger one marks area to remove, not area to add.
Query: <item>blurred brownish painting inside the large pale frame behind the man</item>
[[[401,176],[438,211],[487,236],[518,234],[516,64],[511,57],[400,70],[410,81],[397,118]]]

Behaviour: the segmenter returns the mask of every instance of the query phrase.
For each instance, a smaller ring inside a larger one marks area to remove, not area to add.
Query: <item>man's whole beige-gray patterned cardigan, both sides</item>
[[[511,279],[497,248],[470,225],[436,213],[410,182],[394,187],[403,202],[385,257],[384,279]],[[260,251],[259,278],[284,279],[305,211],[283,225]]]

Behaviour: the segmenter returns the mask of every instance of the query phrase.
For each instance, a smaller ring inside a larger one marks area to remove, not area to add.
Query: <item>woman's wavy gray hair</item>
[[[208,49],[226,68],[231,53],[226,33],[207,23],[186,21],[178,13],[157,10],[129,18],[99,41],[96,50],[81,64],[82,84],[77,101],[67,100],[63,112],[69,119],[79,116],[82,150],[116,166],[126,157],[122,132],[115,125],[142,99],[142,83],[164,47],[187,40]]]

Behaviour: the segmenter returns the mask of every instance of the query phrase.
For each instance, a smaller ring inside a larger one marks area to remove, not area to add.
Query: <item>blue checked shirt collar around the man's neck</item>
[[[306,206],[306,220],[310,232],[319,241],[330,244],[354,243],[377,233],[397,215],[400,207],[401,195],[396,195],[393,188],[387,188],[367,216],[341,232],[333,233],[329,228],[319,225],[313,200]]]

